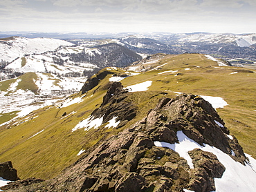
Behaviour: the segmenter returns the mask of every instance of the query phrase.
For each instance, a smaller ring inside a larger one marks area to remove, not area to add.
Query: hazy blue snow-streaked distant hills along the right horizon
[[[114,36],[114,35],[113,35]],[[209,54],[230,61],[234,66],[256,68],[256,34],[214,34],[194,32],[184,34],[152,33],[145,35],[128,35],[112,39],[71,40],[75,44],[90,47],[107,44],[110,41],[126,46],[140,54],[151,55],[162,52],[166,54],[194,53]]]

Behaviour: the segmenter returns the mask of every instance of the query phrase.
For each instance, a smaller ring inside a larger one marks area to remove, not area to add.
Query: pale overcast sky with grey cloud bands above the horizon
[[[256,32],[256,0],[0,0],[0,31]]]

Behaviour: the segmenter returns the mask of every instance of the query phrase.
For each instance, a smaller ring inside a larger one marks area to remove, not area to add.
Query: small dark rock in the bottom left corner
[[[17,170],[12,167],[12,162],[4,162],[0,164],[0,177],[10,181],[19,180]]]

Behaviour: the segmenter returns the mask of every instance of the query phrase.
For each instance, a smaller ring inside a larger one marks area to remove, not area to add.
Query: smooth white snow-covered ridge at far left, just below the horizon
[[[43,53],[55,50],[60,46],[73,46],[74,44],[51,38],[26,38],[10,37],[0,39],[0,61],[13,61],[17,57],[31,55],[33,53]]]

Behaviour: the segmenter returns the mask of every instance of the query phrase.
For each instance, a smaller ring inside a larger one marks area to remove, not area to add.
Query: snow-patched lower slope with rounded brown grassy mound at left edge
[[[0,81],[0,113],[19,111],[17,117],[23,117],[77,93],[85,81],[86,77],[57,77],[44,73],[26,73],[16,79]]]

